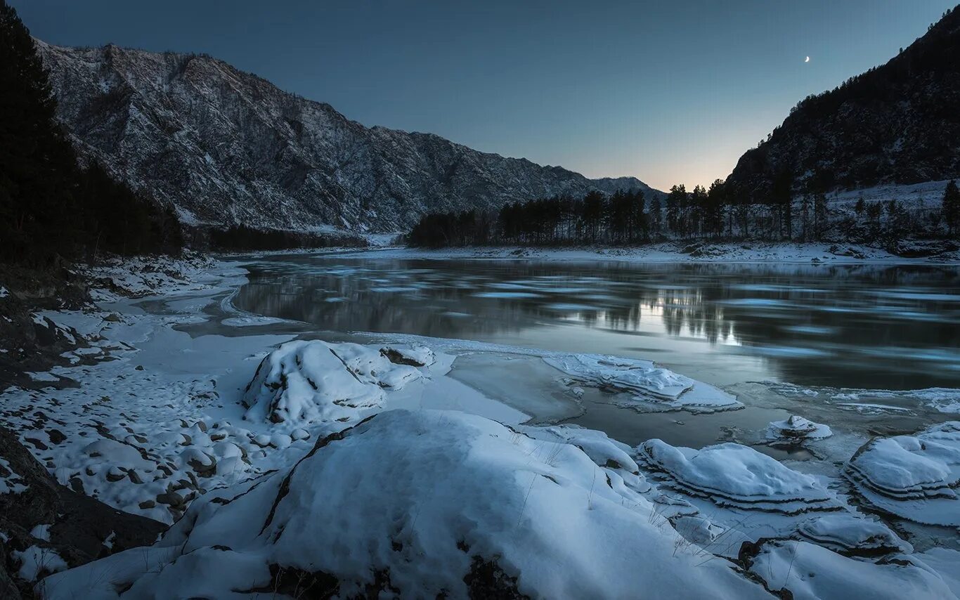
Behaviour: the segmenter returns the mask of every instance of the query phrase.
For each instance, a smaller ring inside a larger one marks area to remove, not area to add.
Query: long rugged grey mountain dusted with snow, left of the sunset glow
[[[367,128],[207,56],[36,40],[58,118],[84,158],[188,223],[396,231],[425,212],[642,188]]]

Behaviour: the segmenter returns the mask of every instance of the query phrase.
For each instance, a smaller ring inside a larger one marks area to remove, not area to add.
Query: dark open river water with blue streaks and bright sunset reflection
[[[956,267],[283,256],[234,301],[325,330],[648,358],[720,385],[960,387]]]

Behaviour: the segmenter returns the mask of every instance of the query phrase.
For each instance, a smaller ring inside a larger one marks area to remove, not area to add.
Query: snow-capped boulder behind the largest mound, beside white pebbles
[[[248,420],[285,423],[354,420],[380,406],[384,389],[421,376],[376,349],[319,340],[287,342],[268,354],[243,396]]]

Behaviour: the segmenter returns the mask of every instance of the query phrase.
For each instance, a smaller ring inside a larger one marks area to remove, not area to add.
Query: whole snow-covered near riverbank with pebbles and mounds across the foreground
[[[175,523],[155,546],[48,577],[45,597],[960,593],[953,530],[894,526],[956,527],[956,421],[866,444],[799,416],[772,422],[778,440],[828,457],[804,463],[734,443],[631,447],[528,423],[522,381],[502,382],[516,396],[502,402],[450,371],[465,353],[516,355],[553,370],[571,401],[596,387],[647,411],[740,403],[615,356],[308,341],[300,324],[231,308],[235,263],[160,271],[113,265],[97,309],[39,315],[89,348],[35,382],[49,387],[0,396],[2,419],[61,483]],[[15,493],[15,474],[0,484]]]

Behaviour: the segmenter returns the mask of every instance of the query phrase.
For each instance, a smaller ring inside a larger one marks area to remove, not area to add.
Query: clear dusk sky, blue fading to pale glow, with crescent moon
[[[60,45],[206,53],[367,126],[654,187],[724,179],[946,0],[12,0]],[[810,60],[804,62],[805,57]]]

